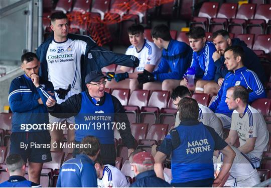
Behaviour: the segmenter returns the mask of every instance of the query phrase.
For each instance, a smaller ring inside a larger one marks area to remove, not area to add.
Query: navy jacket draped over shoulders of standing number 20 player
[[[121,53],[114,53],[110,50],[106,50],[100,47],[89,36],[79,34],[68,34],[68,38],[75,40],[83,40],[87,43],[85,54],[81,56],[81,78],[82,78],[82,90],[85,90],[85,76],[90,71],[101,71],[101,68],[109,64],[118,64],[129,67],[137,67],[139,65],[139,59],[133,55],[125,55]],[[40,76],[45,80],[48,80],[48,65],[46,60],[46,53],[49,44],[53,41],[53,36],[44,41],[37,49],[37,56],[40,59]]]

